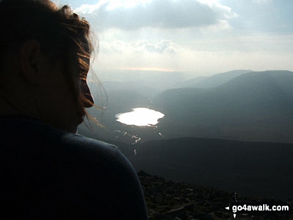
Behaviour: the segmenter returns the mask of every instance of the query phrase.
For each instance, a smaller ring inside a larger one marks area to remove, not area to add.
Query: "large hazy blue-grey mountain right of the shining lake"
[[[215,88],[166,90],[152,107],[167,138],[293,142],[293,72],[241,74]]]

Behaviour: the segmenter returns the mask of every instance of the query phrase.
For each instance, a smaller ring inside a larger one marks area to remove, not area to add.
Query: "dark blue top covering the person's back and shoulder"
[[[135,170],[113,145],[0,117],[0,219],[147,220]]]

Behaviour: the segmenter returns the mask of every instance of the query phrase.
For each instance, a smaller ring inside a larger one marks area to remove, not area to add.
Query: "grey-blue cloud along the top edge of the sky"
[[[111,3],[112,2],[112,3]],[[82,5],[80,11],[97,30],[140,28],[188,28],[215,25],[236,14],[230,7],[203,0],[144,0],[135,5],[103,0],[95,5]]]

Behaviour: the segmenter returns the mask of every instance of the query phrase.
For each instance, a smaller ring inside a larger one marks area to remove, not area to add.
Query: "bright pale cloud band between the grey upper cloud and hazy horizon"
[[[168,69],[208,75],[231,69],[292,70],[292,42],[293,35],[264,34],[199,39],[192,45],[170,40],[102,41],[95,65],[103,69]]]

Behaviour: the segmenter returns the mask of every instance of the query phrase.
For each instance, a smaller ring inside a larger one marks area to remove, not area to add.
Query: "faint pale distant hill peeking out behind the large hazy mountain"
[[[218,73],[209,77],[199,76],[185,81],[184,83],[180,84],[180,86],[182,88],[213,88],[222,85],[230,81],[231,79],[248,72],[252,72],[252,70],[232,70],[229,72]],[[179,86],[177,86],[177,88],[179,88]]]

